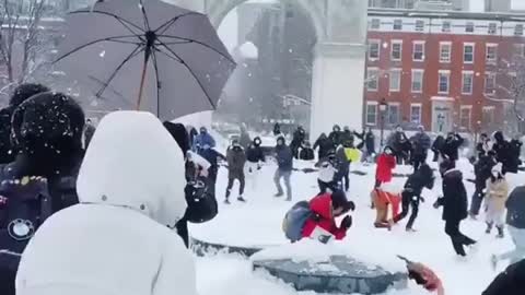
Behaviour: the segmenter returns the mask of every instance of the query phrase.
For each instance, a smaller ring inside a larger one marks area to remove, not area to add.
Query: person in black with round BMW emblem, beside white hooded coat
[[[0,168],[2,295],[15,294],[20,255],[38,226],[52,213],[78,203],[75,182],[84,156],[84,121],[82,108],[61,93],[37,94],[22,103],[13,114],[13,148],[19,154],[14,162]],[[27,189],[36,179],[45,179],[46,189],[27,199]],[[21,187],[16,188],[18,184]],[[8,189],[5,185],[11,187]],[[11,227],[19,220],[27,226],[27,234],[23,236],[21,231]]]

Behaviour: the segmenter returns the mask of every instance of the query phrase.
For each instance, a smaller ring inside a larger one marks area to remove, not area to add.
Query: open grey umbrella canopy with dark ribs
[[[208,16],[159,0],[98,1],[67,27],[56,67],[114,109],[212,110],[235,69]]]

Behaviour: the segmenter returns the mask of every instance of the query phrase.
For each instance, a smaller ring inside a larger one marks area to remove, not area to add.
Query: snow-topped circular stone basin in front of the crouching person
[[[296,291],[338,294],[381,294],[405,288],[407,274],[390,273],[347,256],[331,256],[325,262],[270,259],[253,261],[254,270],[266,270]]]

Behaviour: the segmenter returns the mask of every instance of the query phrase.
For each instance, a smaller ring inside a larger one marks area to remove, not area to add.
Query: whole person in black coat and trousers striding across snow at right
[[[438,199],[434,208],[443,206],[445,233],[451,237],[456,253],[465,257],[467,253],[464,246],[474,246],[476,240],[459,231],[462,221],[467,217],[468,204],[463,175],[455,168],[455,162],[448,158],[440,164],[440,173],[443,177],[443,197]]]

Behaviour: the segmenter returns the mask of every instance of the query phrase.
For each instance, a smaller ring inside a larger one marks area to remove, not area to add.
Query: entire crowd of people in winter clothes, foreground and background
[[[161,122],[148,113],[116,111],[95,129],[74,99],[39,84],[20,85],[10,105],[0,110],[0,119],[2,295],[113,291],[153,295],[174,290],[196,294],[195,267],[186,249],[188,223],[203,223],[218,214],[215,184],[221,166],[228,168],[224,202],[229,204],[235,180],[237,200],[245,202],[244,188],[257,185],[268,161],[261,139],[252,140],[246,128],[225,155],[217,151],[207,128],[197,131]],[[314,145],[303,128],[295,130],[290,145],[279,126],[273,134],[277,198],[292,200],[294,161],[313,161],[315,168],[303,172],[318,172],[318,194],[294,204],[284,216],[283,229],[292,243],[306,237],[322,243],[345,238],[352,226],[349,213],[357,210],[345,192],[351,188],[350,164],[361,161],[377,163],[371,188],[377,212],[374,225],[392,228],[410,213],[406,228],[413,231],[419,203],[424,201],[422,190],[434,185],[427,164],[431,150],[443,178],[443,197],[434,205],[443,206],[454,250],[464,257],[464,247],[476,245],[459,228],[468,215],[477,217],[485,201],[487,233],[495,228],[503,237],[506,224],[515,249],[492,257],[494,266],[502,260],[513,264],[483,294],[523,291],[525,186],[509,193],[505,180],[520,166],[520,142],[506,141],[501,132],[493,140],[481,137],[472,161],[476,192],[468,208],[465,179],[455,167],[459,134],[450,133],[431,144],[422,129],[410,139],[398,129],[378,155],[372,130],[358,133],[336,126]],[[412,164],[413,173],[402,191],[389,191],[393,169],[401,163]],[[428,290],[442,288],[427,267],[409,262],[408,271]]]

